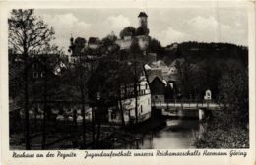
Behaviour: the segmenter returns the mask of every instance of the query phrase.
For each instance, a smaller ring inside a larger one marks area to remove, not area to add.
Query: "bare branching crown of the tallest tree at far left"
[[[41,18],[36,17],[33,9],[12,10],[8,25],[9,48],[19,54],[40,52],[54,39],[53,28],[49,28]]]

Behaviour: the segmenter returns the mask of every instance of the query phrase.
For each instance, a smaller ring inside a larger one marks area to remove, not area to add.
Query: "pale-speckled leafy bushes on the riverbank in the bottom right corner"
[[[249,129],[223,111],[214,111],[212,119],[202,123],[203,132],[195,133],[197,148],[249,148]]]

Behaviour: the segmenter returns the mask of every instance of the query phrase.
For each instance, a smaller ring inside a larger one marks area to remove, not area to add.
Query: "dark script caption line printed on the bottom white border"
[[[187,151],[169,151],[169,150],[156,150],[155,151],[133,151],[133,153],[130,150],[127,151],[85,151],[84,158],[96,158],[96,157],[167,157],[167,156],[242,156],[246,157],[247,152],[246,151],[240,151],[240,150],[230,150],[230,151],[209,151],[209,150],[187,150]],[[46,154],[43,153],[28,153],[26,151],[23,152],[13,152],[12,155],[13,158],[40,158],[40,157],[46,157],[46,158],[76,158],[78,157],[78,154],[75,152],[62,152],[62,151],[49,151]]]

